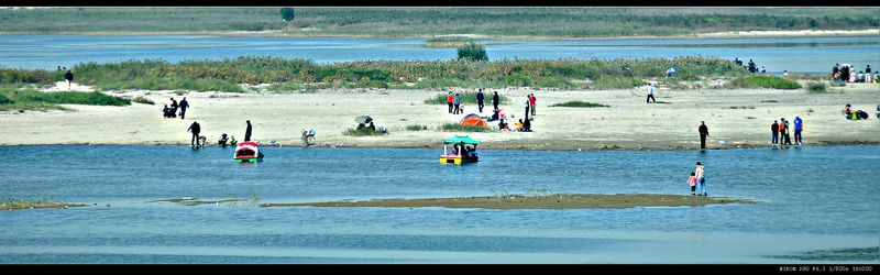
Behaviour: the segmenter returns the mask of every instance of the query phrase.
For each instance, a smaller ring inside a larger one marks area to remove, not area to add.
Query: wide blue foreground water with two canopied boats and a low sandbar
[[[880,146],[670,152],[0,146],[0,196],[86,204],[0,211],[0,263],[810,263],[880,245]],[[486,210],[257,207],[509,194],[672,194],[702,162],[703,207]],[[161,201],[248,199],[185,206]],[[158,200],[158,201],[157,201]],[[822,262],[828,263],[828,262]],[[851,263],[844,261],[844,263]],[[875,262],[868,262],[875,263]]]

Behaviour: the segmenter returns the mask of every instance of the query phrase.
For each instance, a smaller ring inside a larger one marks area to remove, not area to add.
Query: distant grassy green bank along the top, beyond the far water
[[[8,34],[155,34],[403,37],[443,34],[596,37],[706,32],[877,29],[880,8],[48,8],[0,9]],[[275,31],[262,32],[260,31]]]

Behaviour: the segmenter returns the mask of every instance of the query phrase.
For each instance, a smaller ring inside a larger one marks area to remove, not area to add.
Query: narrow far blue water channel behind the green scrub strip
[[[740,40],[483,41],[490,61],[513,58],[645,58],[715,56],[755,61],[768,74],[831,74],[834,64],[880,67],[880,36]],[[205,35],[4,35],[0,66],[74,67],[129,59],[222,59],[239,56],[308,58],[319,63],[367,59],[437,61],[455,48],[426,48],[416,38],[221,37]]]

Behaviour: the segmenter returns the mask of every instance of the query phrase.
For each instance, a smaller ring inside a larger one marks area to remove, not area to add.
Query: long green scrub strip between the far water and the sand
[[[636,59],[498,59],[492,62],[358,61],[316,63],[311,59],[270,56],[190,59],[123,61],[110,64],[80,63],[73,67],[76,81],[97,90],[220,90],[242,91],[241,85],[272,84],[274,90],[324,88],[442,89],[447,87],[497,88],[629,88],[642,79],[663,77],[676,67],[679,79],[735,77],[748,72],[733,61],[717,57]],[[65,72],[0,68],[0,84],[63,81]]]

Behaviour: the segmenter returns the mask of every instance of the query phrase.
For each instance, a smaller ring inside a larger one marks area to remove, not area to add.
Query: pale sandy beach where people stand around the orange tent
[[[46,89],[66,90],[66,85]],[[90,87],[74,86],[89,91]],[[464,114],[451,114],[447,106],[426,105],[425,99],[446,94],[440,90],[348,89],[316,92],[198,92],[124,91],[107,92],[133,98],[143,96],[156,105],[128,107],[65,106],[66,111],[0,113],[0,145],[46,144],[189,144],[187,128],[201,124],[209,145],[222,133],[242,140],[245,120],[253,123],[253,140],[266,145],[301,146],[302,130],[317,131],[318,146],[337,147],[442,147],[440,140],[469,135],[483,141],[483,150],[698,150],[697,127],[708,125],[707,148],[770,146],[773,120],[804,121],[804,146],[878,144],[880,123],[875,117],[880,103],[877,84],[848,84],[831,92],[803,89],[694,89],[660,87],[658,103],[646,103],[645,88],[623,90],[547,90],[532,88],[492,89],[512,99],[501,105],[515,120],[525,116],[522,101],[537,97],[535,132],[443,132],[438,127],[459,122]],[[454,89],[454,91],[465,91]],[[474,91],[468,89],[466,91]],[[191,108],[186,119],[164,119],[163,105],[186,97]],[[588,101],[609,108],[550,107],[570,100]],[[851,121],[840,116],[847,103],[866,110],[868,120]],[[488,107],[491,108],[491,106]],[[488,116],[488,108],[482,116]],[[477,113],[465,106],[466,113]],[[350,136],[343,131],[356,125],[354,118],[367,114],[376,125],[389,129],[380,136]],[[407,125],[427,125],[408,131]],[[496,122],[493,125],[497,124]],[[270,140],[276,140],[270,144]],[[722,144],[719,140],[724,140]]]

